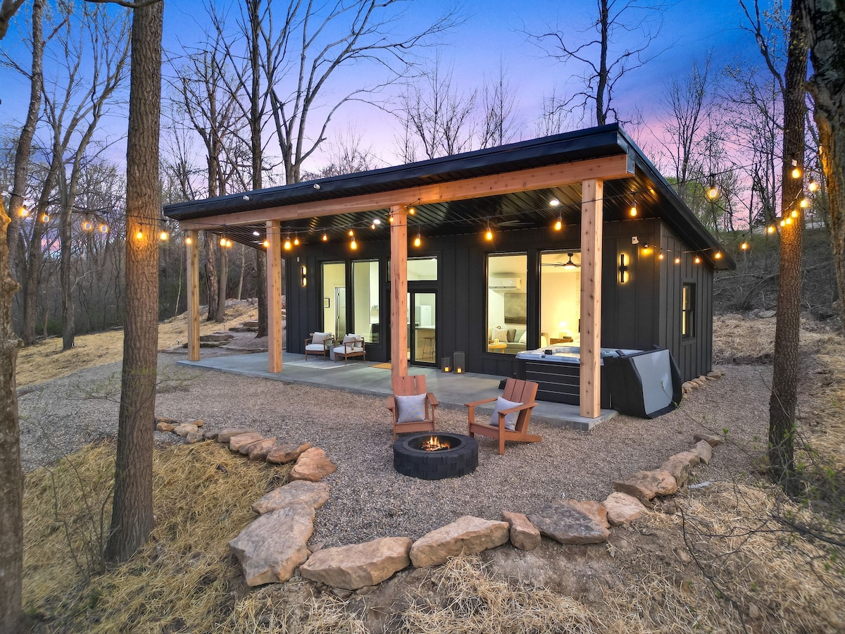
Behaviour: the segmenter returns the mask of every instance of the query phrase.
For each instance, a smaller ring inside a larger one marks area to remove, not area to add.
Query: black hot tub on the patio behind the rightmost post
[[[640,353],[640,350],[619,350],[602,347],[601,405],[612,407],[604,359]],[[541,401],[578,405],[581,402],[581,347],[547,346],[516,353],[516,378],[534,381]]]

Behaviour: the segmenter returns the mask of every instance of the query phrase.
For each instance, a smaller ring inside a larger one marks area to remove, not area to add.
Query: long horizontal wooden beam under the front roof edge
[[[431,203],[449,202],[450,200],[465,200],[514,194],[515,192],[544,189],[547,187],[561,187],[586,180],[613,180],[614,178],[630,178],[634,175],[633,162],[628,155],[606,156],[588,161],[575,161],[563,165],[547,167],[532,167],[517,172],[506,172],[493,176],[465,178],[463,180],[436,183],[424,187],[395,189],[379,194],[363,194],[360,196],[346,196],[337,199],[317,200],[297,205],[269,207],[262,210],[241,211],[239,213],[209,216],[194,221],[180,221],[185,229],[209,229],[211,227],[226,227],[248,225],[269,220],[297,220],[319,216],[336,216],[357,211],[372,211],[405,206],[410,203],[428,205]],[[269,268],[269,267],[268,267]]]

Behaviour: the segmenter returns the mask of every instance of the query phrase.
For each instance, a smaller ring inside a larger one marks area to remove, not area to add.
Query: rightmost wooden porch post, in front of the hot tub
[[[581,416],[601,413],[604,182],[581,182]]]

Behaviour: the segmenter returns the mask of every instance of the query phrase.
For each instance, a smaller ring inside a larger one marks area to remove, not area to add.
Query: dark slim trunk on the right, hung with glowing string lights
[[[769,464],[776,482],[792,489],[794,473],[795,410],[798,402],[799,334],[801,331],[801,238],[804,218],[800,199],[802,178],[793,178],[794,167],[804,172],[804,117],[807,46],[801,16],[802,0],[793,0],[786,82],[783,93],[783,166],[781,216],[781,265],[777,283],[774,374],[769,400]],[[793,165],[793,161],[795,164]]]

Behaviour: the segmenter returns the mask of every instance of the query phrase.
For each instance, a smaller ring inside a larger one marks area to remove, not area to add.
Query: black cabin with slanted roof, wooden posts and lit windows
[[[559,347],[586,417],[601,407],[602,355],[661,348],[682,380],[711,370],[713,273],[733,267],[616,123],[165,215],[187,235],[188,358],[206,231],[267,252],[270,372],[283,371],[284,292],[289,353],[315,331],[355,333],[397,376],[510,377]]]

